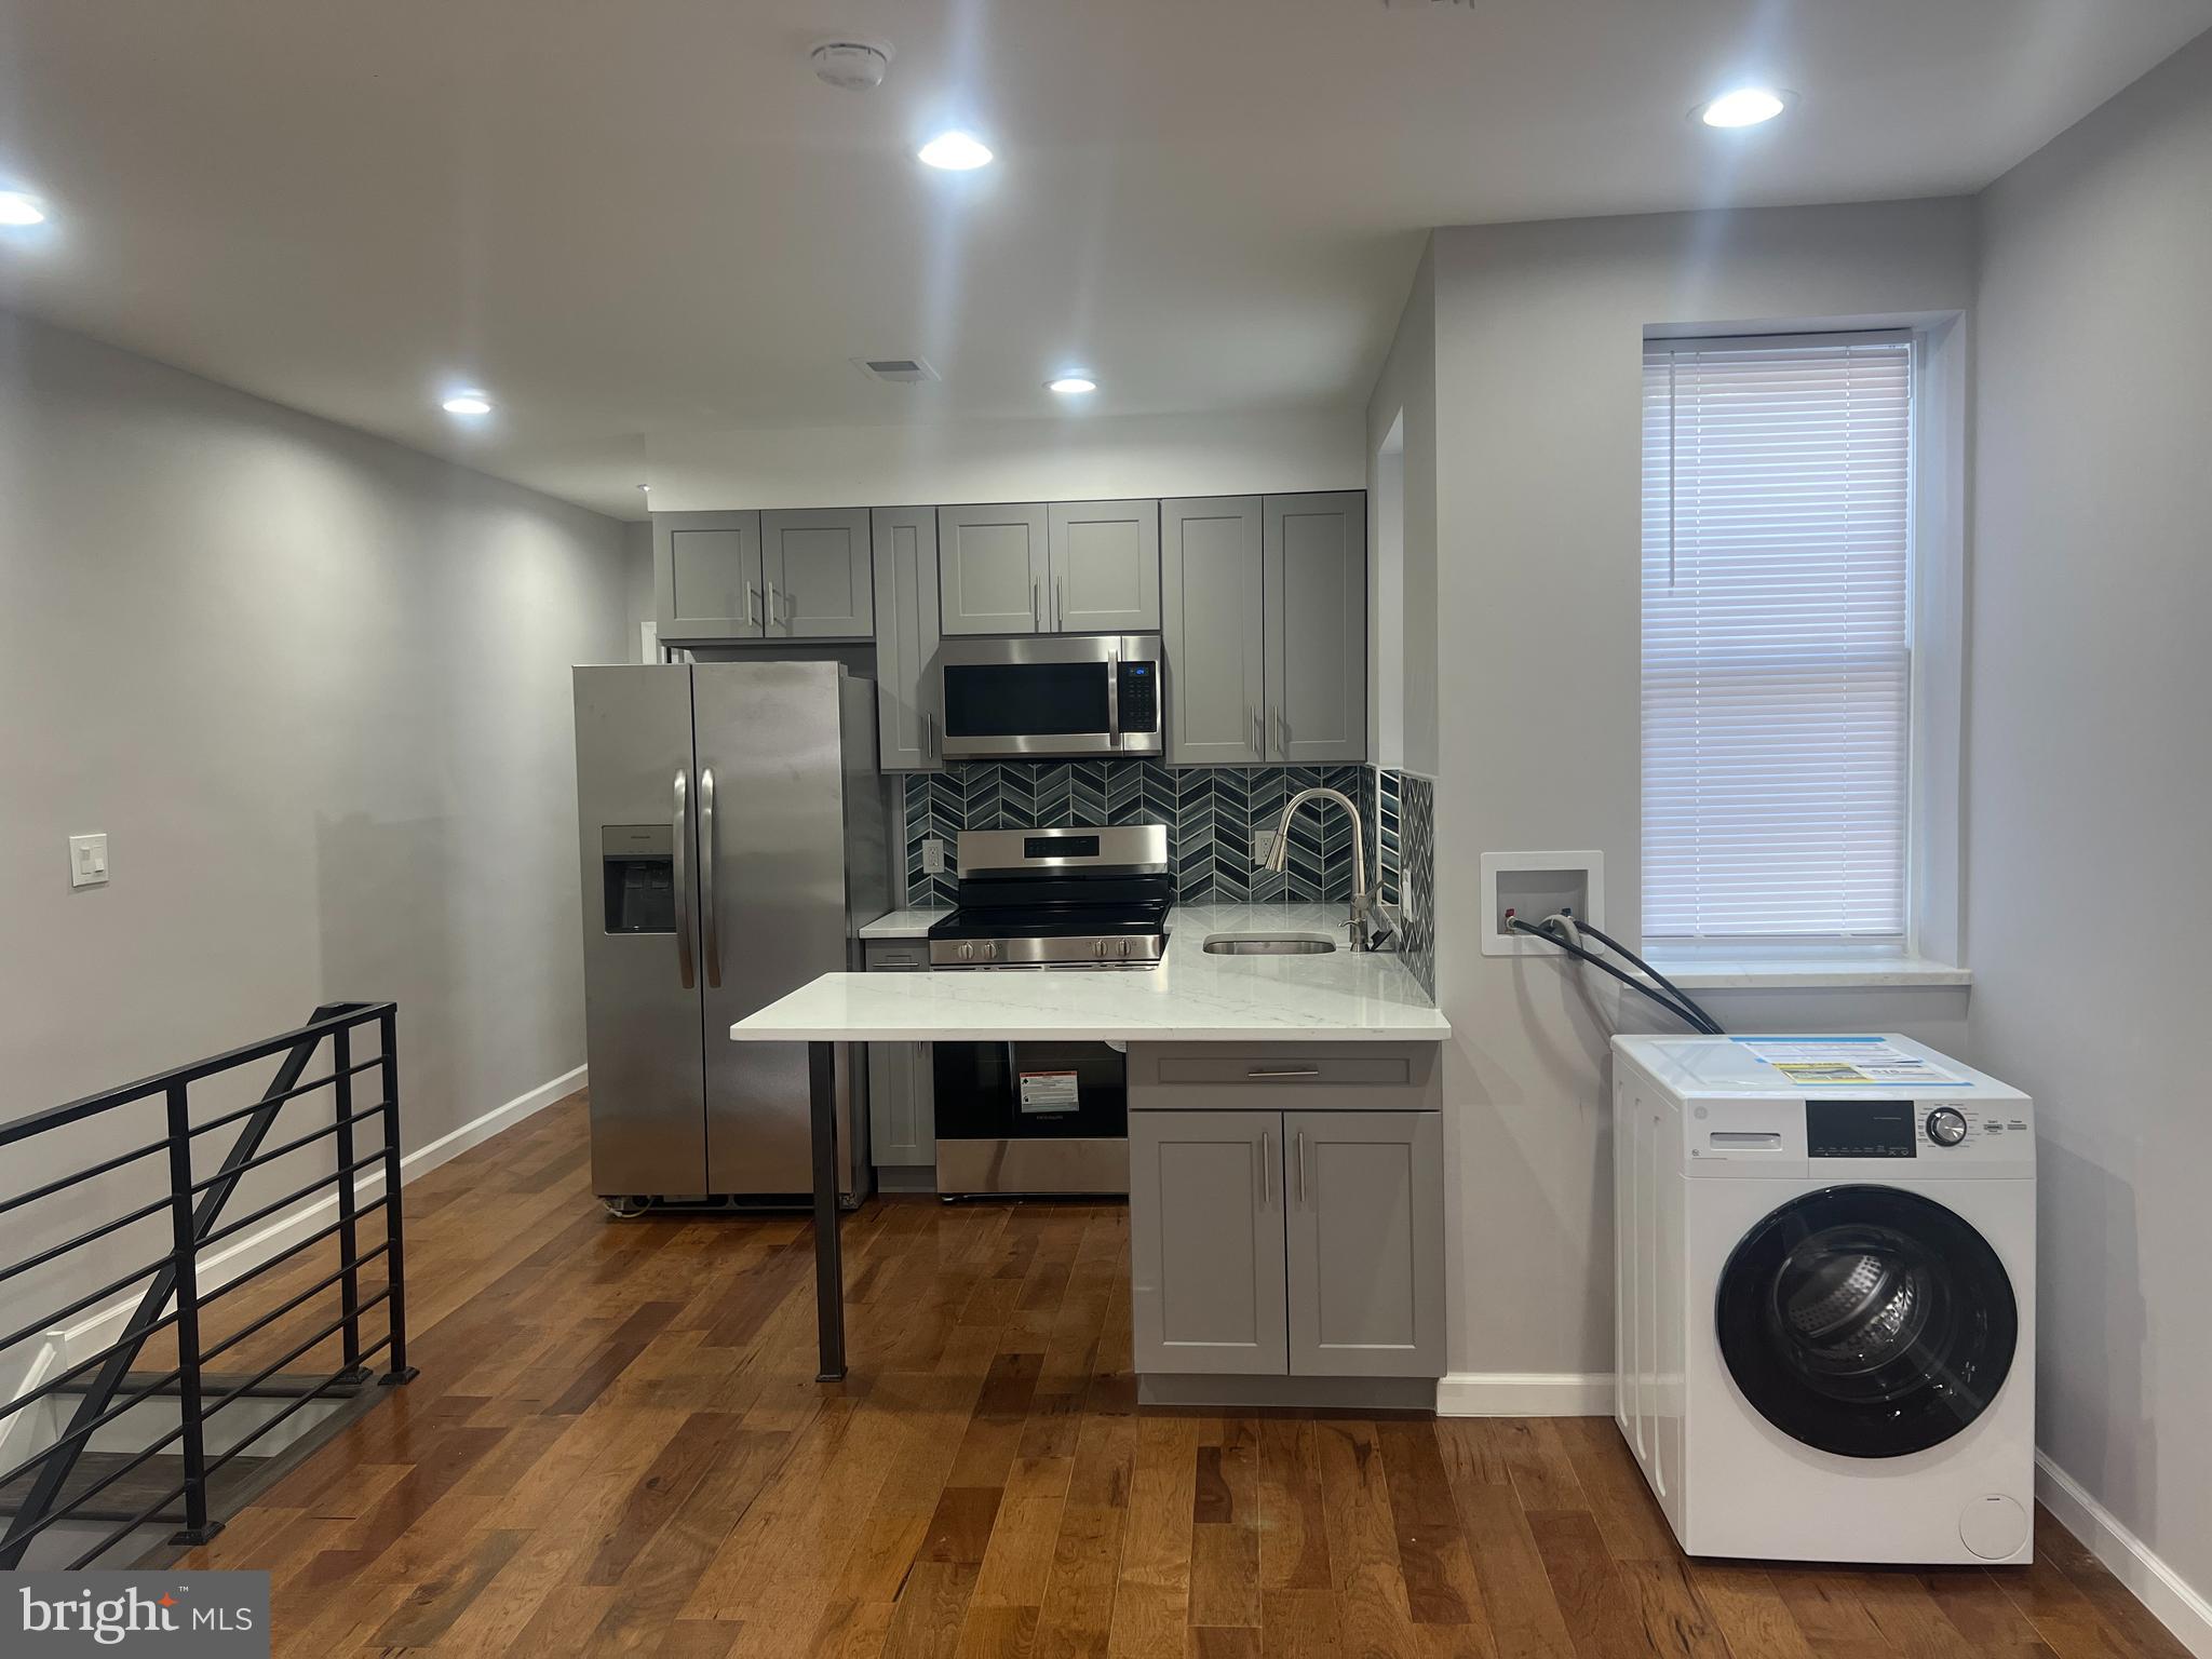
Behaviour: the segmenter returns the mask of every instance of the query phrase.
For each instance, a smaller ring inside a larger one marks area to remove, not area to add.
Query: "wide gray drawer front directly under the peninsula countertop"
[[[1128,1053],[1130,1106],[1150,1110],[1433,1110],[1436,1044],[1144,1044]]]

